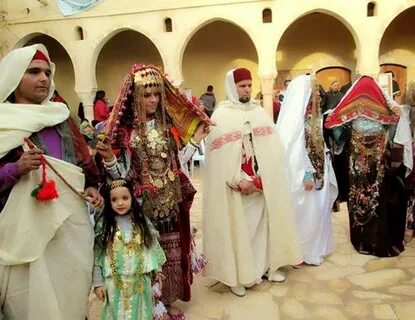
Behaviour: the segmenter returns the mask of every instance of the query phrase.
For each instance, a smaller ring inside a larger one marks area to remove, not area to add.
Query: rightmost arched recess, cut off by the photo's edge
[[[393,71],[400,87],[398,103],[404,101],[408,80],[415,80],[415,32],[408,21],[414,21],[415,7],[399,14],[387,27],[379,47],[380,72]]]

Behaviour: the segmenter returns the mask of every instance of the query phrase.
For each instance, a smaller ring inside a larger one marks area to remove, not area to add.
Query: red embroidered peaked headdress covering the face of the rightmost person
[[[398,121],[379,85],[369,76],[362,76],[354,83],[327,117],[325,127],[338,127],[357,117],[366,117],[382,124],[395,124]]]

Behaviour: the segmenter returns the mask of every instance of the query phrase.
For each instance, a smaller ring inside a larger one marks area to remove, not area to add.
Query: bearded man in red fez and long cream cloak
[[[294,213],[272,119],[254,102],[249,70],[226,75],[228,100],[212,115],[203,192],[205,275],[237,296],[301,261]]]

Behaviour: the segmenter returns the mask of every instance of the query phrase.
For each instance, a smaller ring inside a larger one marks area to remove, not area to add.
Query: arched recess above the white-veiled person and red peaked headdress
[[[288,27],[278,44],[276,89],[286,79],[321,69],[327,69],[318,76],[323,83],[334,76],[347,78],[343,71],[354,71],[355,50],[352,33],[340,20],[326,13],[307,14]]]

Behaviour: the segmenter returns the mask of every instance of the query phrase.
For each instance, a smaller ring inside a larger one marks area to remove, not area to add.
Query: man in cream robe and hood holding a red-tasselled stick
[[[84,320],[87,311],[94,235],[79,193],[98,207],[103,200],[68,108],[49,101],[54,72],[39,44],[13,50],[0,64],[0,314],[7,320]],[[43,172],[58,198],[31,196]]]

